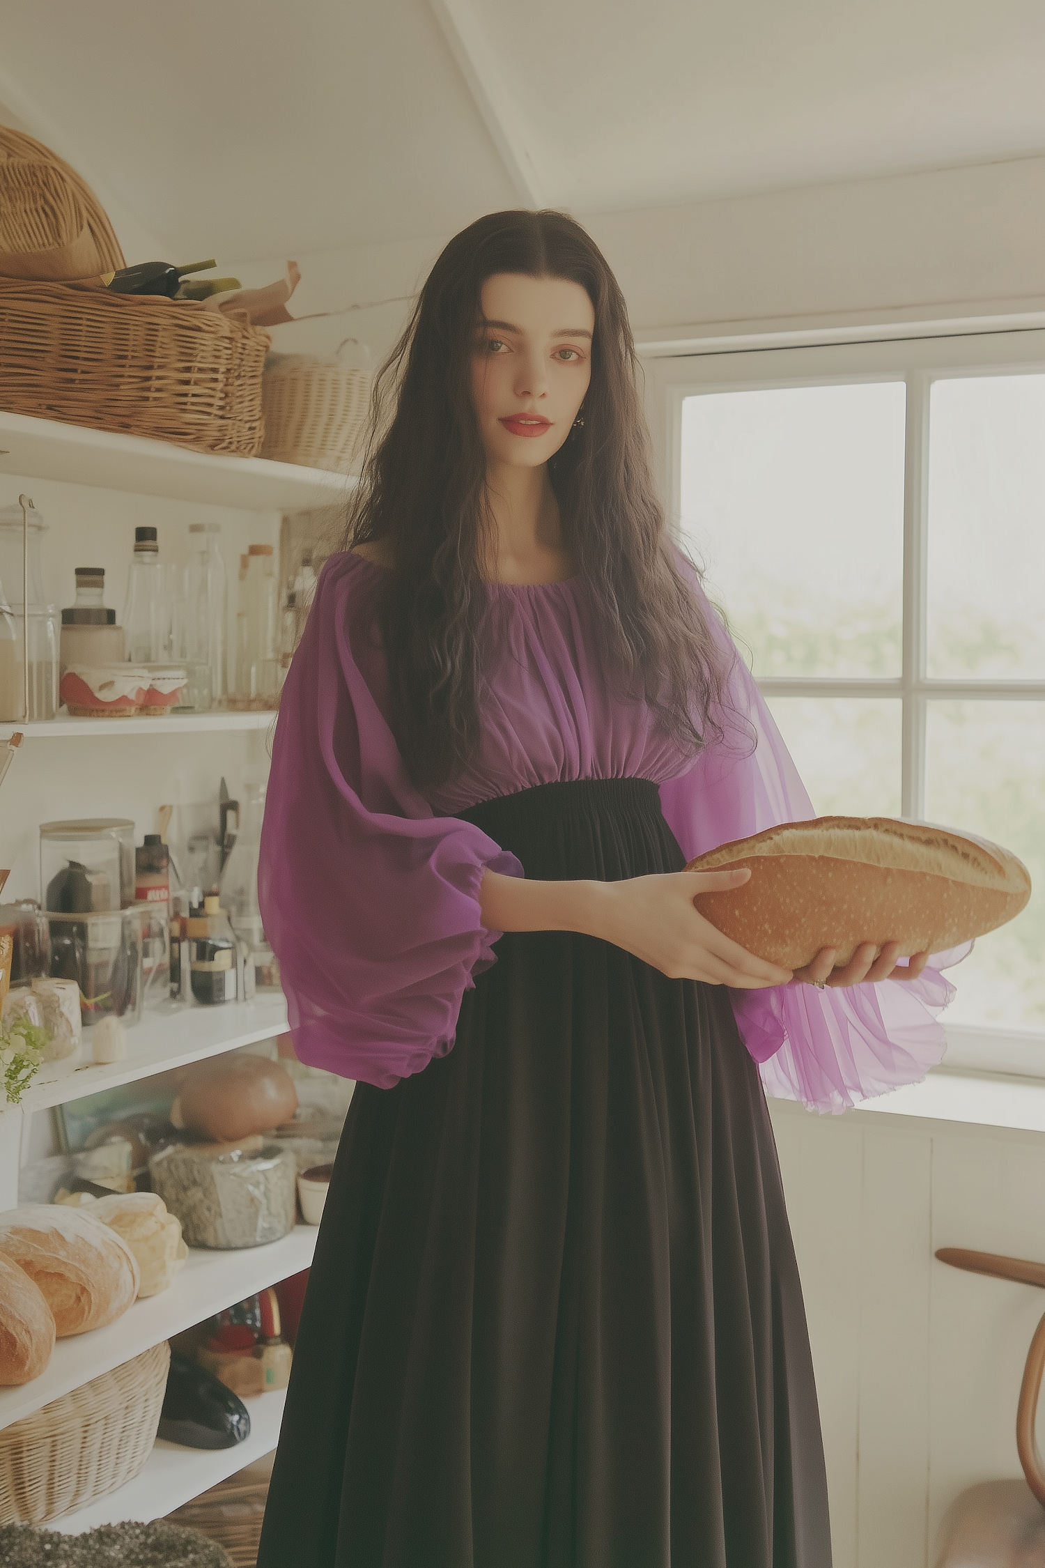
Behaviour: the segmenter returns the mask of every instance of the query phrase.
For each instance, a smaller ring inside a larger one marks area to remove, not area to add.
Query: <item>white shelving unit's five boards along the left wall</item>
[[[160,441],[107,434],[0,411],[0,478],[5,474],[268,514],[335,506],[356,483],[345,475],[318,469],[262,458],[208,456]],[[216,740],[232,732],[266,731],[273,720],[271,712],[179,713],[133,720],[56,718],[49,723],[3,724],[0,742],[14,729],[22,731],[27,745],[33,743],[33,751],[38,740],[61,743],[124,737],[149,745],[149,737],[171,734]],[[67,814],[77,815],[75,757],[85,753],[74,746],[66,757],[58,745],[53,753],[49,746],[45,754],[49,775],[67,778]],[[285,1027],[287,1005],[282,996],[259,996],[254,1002],[222,1008],[146,1013],[136,1027],[127,1030],[127,1055],[122,1062],[89,1065],[64,1074],[44,1068],[20,1107],[0,1110],[0,1209],[16,1203],[19,1151],[25,1146],[25,1129],[33,1115],[47,1113],[55,1105],[99,1090],[271,1038]],[[39,1378],[24,1388],[0,1389],[0,1427],[31,1414],[80,1383],[244,1295],[307,1269],[315,1237],[315,1228],[299,1225],[290,1236],[268,1247],[227,1253],[191,1251],[185,1269],[168,1290],[136,1301],[108,1328],[60,1341]],[[78,1532],[105,1521],[152,1519],[188,1502],[276,1446],[284,1396],[262,1396],[251,1400],[249,1408],[252,1432],[246,1443],[218,1452],[157,1443],[146,1468],[133,1482],[108,1497],[96,1499],[75,1515],[50,1521],[52,1527]]]

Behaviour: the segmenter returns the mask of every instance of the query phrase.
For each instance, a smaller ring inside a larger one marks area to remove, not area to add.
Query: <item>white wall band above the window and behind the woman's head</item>
[[[1045,309],[1045,157],[578,216],[605,249],[639,339]],[[296,259],[332,304],[387,299],[412,293],[448,238]],[[262,284],[284,263],[227,265]],[[404,315],[392,304],[273,337],[277,348],[320,353],[353,334],[382,356]]]

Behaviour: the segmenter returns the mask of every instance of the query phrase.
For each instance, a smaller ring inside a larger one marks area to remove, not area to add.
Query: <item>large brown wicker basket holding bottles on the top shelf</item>
[[[0,278],[0,408],[257,456],[268,332],[157,296]]]

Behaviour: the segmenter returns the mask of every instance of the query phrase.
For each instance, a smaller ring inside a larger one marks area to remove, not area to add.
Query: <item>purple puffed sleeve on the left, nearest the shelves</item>
[[[378,571],[335,555],[320,575],[279,704],[259,900],[301,1060],[390,1088],[453,1046],[500,936],[483,872],[522,867],[407,778],[374,696]]]

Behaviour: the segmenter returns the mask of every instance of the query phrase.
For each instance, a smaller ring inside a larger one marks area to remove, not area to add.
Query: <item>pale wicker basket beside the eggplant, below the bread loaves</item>
[[[0,1524],[44,1524],[116,1491],[160,1425],[166,1339],[0,1432]]]

